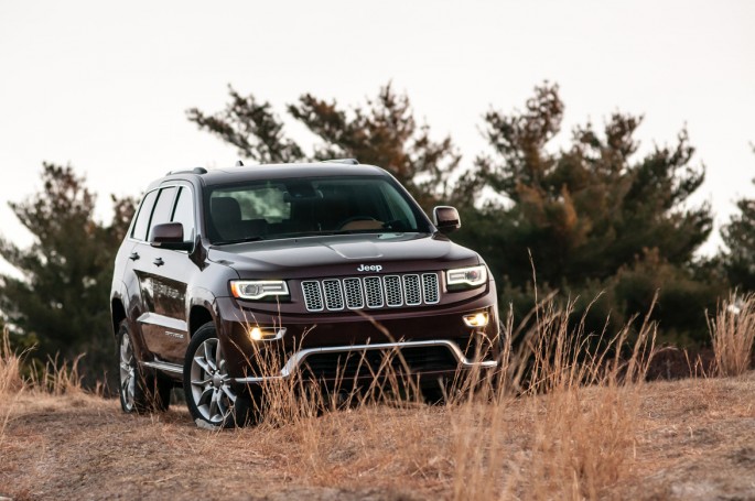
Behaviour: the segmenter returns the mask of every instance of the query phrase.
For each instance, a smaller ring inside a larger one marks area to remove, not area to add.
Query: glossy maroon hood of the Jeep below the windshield
[[[314,277],[444,270],[479,255],[435,233],[305,237],[211,247],[211,261],[241,277]]]

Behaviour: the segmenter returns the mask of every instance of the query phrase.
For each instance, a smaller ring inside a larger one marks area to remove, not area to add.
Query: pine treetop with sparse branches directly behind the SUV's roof
[[[262,163],[355,157],[379,165],[407,186],[425,210],[443,199],[449,176],[461,160],[451,138],[434,141],[430,128],[417,122],[409,98],[390,84],[365,106],[352,109],[311,94],[289,105],[289,115],[319,140],[311,154],[285,137],[283,122],[269,102],[244,97],[233,88],[229,94],[224,110],[205,113],[192,108],[186,112],[188,120],[235,146],[240,155]]]

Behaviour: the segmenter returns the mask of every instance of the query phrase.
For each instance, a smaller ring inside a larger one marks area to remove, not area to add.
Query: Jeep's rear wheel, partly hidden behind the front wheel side
[[[120,409],[127,414],[166,411],[173,385],[160,374],[141,370],[133,355],[133,341],[126,320],[120,323],[118,329],[116,359],[118,360]]]

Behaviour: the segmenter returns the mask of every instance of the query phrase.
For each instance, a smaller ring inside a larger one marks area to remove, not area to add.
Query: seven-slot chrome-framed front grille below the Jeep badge
[[[302,293],[308,312],[397,308],[441,301],[438,273],[306,280]]]

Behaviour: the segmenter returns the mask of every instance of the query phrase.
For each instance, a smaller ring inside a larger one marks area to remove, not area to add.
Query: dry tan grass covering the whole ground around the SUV
[[[390,384],[382,397],[354,394],[344,405],[290,381],[266,390],[273,409],[258,426],[207,432],[183,409],[125,415],[117,401],[77,391],[72,374],[52,378],[71,389],[61,395],[15,380],[0,394],[0,495],[755,497],[752,373],[645,383],[652,324],[594,337],[581,323],[570,327],[569,307],[546,303],[536,313],[522,350],[506,350],[497,381],[476,374],[475,390],[451,392],[444,406],[399,397]],[[509,317],[505,339],[515,331]]]

